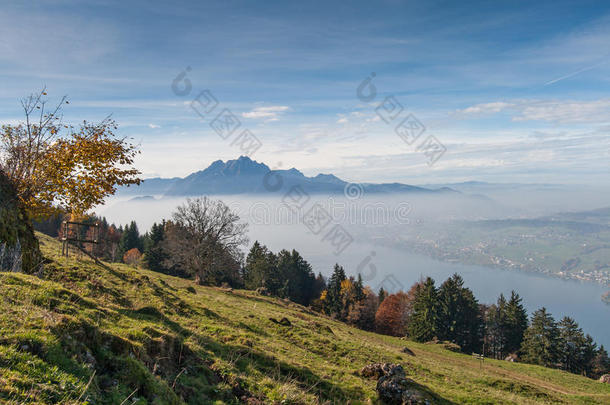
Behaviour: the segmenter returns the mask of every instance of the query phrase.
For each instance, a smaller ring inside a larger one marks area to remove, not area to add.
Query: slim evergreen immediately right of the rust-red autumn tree
[[[418,342],[432,340],[438,334],[438,293],[430,277],[415,290],[413,312],[408,321],[409,336]]]

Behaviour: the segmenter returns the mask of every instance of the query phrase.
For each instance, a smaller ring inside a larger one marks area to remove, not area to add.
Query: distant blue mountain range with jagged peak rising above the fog
[[[401,183],[359,183],[351,186],[333,174],[307,177],[297,169],[271,170],[264,163],[246,156],[223,162],[217,160],[207,169],[184,178],[146,179],[139,186],[122,187],[119,195],[138,196],[189,196],[222,194],[285,193],[293,186],[301,186],[310,194],[343,194],[346,192],[377,193],[458,193],[449,187],[425,188]]]

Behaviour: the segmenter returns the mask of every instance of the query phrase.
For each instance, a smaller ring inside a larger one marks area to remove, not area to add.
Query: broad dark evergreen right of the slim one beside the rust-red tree
[[[438,338],[458,344],[464,352],[480,347],[482,320],[472,291],[464,287],[458,274],[448,278],[438,290]]]

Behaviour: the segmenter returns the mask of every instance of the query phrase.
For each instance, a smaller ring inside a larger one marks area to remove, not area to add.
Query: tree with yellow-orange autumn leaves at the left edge
[[[139,184],[132,167],[137,147],[115,137],[116,123],[62,123],[62,98],[47,108],[43,90],[22,100],[25,119],[0,133],[0,170],[17,189],[30,218],[60,205],[78,218],[104,201],[117,186]]]

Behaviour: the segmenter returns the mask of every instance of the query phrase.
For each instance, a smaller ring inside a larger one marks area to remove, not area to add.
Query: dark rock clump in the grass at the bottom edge
[[[377,378],[377,394],[386,404],[411,405],[431,404],[430,395],[421,390],[415,381],[405,375],[400,364],[374,363],[365,366],[360,374],[368,378]]]

